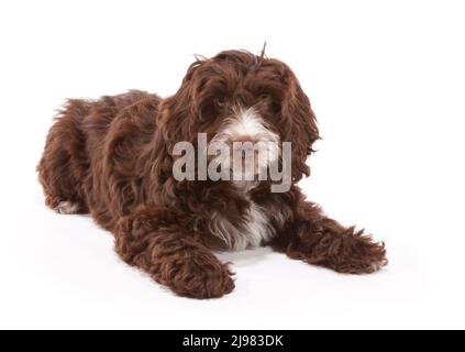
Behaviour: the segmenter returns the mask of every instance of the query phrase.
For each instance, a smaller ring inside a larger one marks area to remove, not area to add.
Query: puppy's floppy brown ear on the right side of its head
[[[298,182],[303,175],[310,175],[306,161],[313,152],[312,145],[320,139],[320,134],[310,100],[287,66],[284,66],[283,79],[287,87],[281,103],[281,118],[286,124],[285,141],[292,143],[292,179]]]

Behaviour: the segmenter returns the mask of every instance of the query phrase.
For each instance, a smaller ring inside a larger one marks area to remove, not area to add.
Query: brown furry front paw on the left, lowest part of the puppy
[[[234,289],[228,265],[210,256],[197,256],[178,263],[169,273],[170,288],[179,296],[190,298],[219,298]]]

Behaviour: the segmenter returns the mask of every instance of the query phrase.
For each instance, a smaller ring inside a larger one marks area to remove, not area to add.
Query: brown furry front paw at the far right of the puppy
[[[333,253],[333,264],[339,273],[375,273],[388,264],[385,244],[362,233],[342,237],[337,251]]]

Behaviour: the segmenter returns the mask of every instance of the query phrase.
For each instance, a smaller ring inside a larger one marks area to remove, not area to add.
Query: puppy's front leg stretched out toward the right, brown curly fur
[[[345,228],[311,202],[301,202],[298,215],[270,243],[276,251],[340,273],[368,274],[387,264],[384,243],[354,228]]]

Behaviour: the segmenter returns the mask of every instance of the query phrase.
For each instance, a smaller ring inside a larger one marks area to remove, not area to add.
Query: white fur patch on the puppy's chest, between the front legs
[[[232,251],[257,248],[275,234],[265,210],[253,201],[240,226],[234,226],[224,216],[214,213],[209,227],[212,234],[222,239]]]

